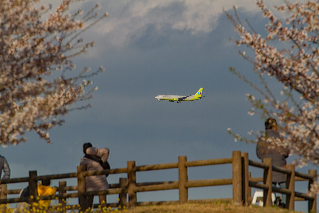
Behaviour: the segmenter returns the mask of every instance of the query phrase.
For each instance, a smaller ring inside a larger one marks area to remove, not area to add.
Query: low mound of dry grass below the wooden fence
[[[292,213],[278,207],[248,206],[238,207],[233,204],[207,203],[207,204],[183,204],[145,206],[129,209],[128,213]],[[298,213],[298,212],[294,212]]]

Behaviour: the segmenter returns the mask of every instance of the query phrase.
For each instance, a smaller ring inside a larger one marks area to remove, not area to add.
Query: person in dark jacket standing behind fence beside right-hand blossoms
[[[260,138],[257,143],[256,153],[257,157],[263,160],[264,158],[271,158],[273,165],[278,167],[286,167],[286,158],[289,156],[288,148],[273,148],[268,138],[279,138],[277,121],[274,118],[268,118],[265,121],[266,137]],[[279,188],[287,189],[286,175],[279,172],[274,172],[272,175],[273,186],[279,185]],[[283,201],[281,206],[286,207],[287,195],[282,195]]]

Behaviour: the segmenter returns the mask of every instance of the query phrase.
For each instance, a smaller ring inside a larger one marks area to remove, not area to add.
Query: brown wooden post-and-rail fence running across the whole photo
[[[225,179],[208,179],[208,180],[188,180],[187,169],[189,167],[199,167],[208,165],[232,164],[232,177]],[[252,178],[249,172],[249,167],[257,167],[263,170],[263,177]],[[136,179],[137,172],[165,170],[165,169],[178,169],[177,181],[166,182],[148,182],[138,183]],[[287,175],[287,189],[280,189],[272,186],[272,171],[281,172]],[[120,178],[118,184],[110,184],[110,189],[95,192],[86,192],[85,177],[92,175],[105,175],[105,174],[127,174],[127,178]],[[66,186],[66,181],[60,181],[58,187],[58,195],[52,196],[37,196],[37,182],[43,179],[57,180],[77,178],[78,186]],[[309,196],[307,193],[300,193],[295,191],[296,181],[308,181],[308,186],[317,180],[317,171],[309,170],[309,174],[303,174],[295,171],[294,165],[287,165],[286,168],[272,166],[271,159],[264,159],[263,163],[251,161],[248,159],[248,153],[241,153],[240,151],[233,151],[231,158],[187,161],[185,156],[179,156],[177,163],[155,164],[136,166],[135,161],[127,162],[126,168],[103,170],[103,171],[84,171],[84,168],[77,167],[76,173],[58,174],[37,176],[36,171],[30,171],[29,177],[13,178],[9,180],[0,180],[0,204],[29,202],[30,204],[40,200],[59,200],[60,208],[72,209],[66,205],[65,200],[68,198],[81,198],[89,195],[119,195],[118,203],[109,203],[108,207],[119,206],[145,206],[162,203],[180,203],[187,202],[216,202],[232,201],[234,205],[248,206],[251,201],[251,188],[257,188],[264,191],[264,206],[272,204],[272,192],[287,195],[287,209],[295,209],[295,201],[308,201],[309,212],[316,212],[317,209],[317,196]],[[7,198],[7,195],[19,194],[21,189],[8,190],[7,184],[25,183],[27,182],[30,189],[30,197],[28,198]],[[194,187],[210,187],[232,185],[233,195],[232,198],[226,199],[205,199],[205,200],[189,200],[188,189]],[[162,201],[162,202],[138,202],[137,193],[150,192],[150,191],[163,191],[163,190],[179,190],[178,201]],[[73,191],[73,193],[72,193]],[[96,208],[98,205],[95,204]],[[78,208],[78,207],[77,207]]]

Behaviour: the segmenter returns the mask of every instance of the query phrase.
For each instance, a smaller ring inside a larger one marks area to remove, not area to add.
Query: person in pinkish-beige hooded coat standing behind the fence
[[[107,161],[109,157],[110,150],[108,148],[97,149],[96,147],[88,147],[83,152],[86,153],[85,156],[81,159],[80,166],[84,166],[85,171],[102,171],[104,170],[101,164],[98,161],[93,160],[94,158],[99,159],[103,162]],[[110,188],[105,175],[98,176],[87,176],[85,178],[86,182],[86,191],[100,191],[107,190]],[[94,196],[88,196],[83,203],[82,211],[85,211],[88,208],[92,208]],[[101,207],[106,207],[106,195],[99,195]]]

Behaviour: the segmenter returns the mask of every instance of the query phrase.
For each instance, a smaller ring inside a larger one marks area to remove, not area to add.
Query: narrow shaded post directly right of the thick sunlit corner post
[[[241,153],[242,157],[242,201],[244,206],[248,206],[249,192],[249,172],[248,172],[248,153]]]

